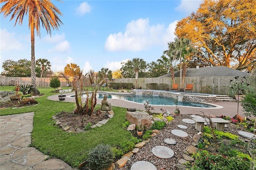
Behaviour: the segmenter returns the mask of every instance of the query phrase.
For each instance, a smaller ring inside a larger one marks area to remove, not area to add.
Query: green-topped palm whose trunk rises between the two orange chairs
[[[193,51],[193,48],[190,45],[190,40],[186,38],[176,37],[174,39],[173,51],[174,51],[174,55],[180,59],[180,87],[184,88],[184,77],[186,76],[186,55],[189,55]],[[182,75],[182,60],[183,60],[183,75]]]

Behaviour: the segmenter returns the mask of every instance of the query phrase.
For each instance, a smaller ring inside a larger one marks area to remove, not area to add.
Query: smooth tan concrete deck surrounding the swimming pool
[[[129,93],[117,93],[115,92],[115,94],[129,94]],[[60,94],[58,94],[60,95]],[[52,95],[49,96],[48,99],[50,100],[54,100],[54,101],[58,101],[58,95]],[[70,93],[63,93],[63,95],[69,96],[69,95],[74,95],[74,92],[70,92]],[[119,107],[124,107],[124,108],[136,108],[137,110],[145,110],[144,109],[144,104],[140,104],[140,103],[134,103],[134,102],[130,102],[130,101],[126,101],[126,100],[121,100],[121,99],[107,99],[112,106],[119,106]],[[101,105],[101,101],[102,99],[97,99],[97,104]],[[65,101],[62,102],[75,102],[74,98],[71,97],[66,97]],[[83,100],[84,102],[84,100]],[[213,115],[213,116],[221,116],[221,115],[225,115],[228,117],[234,117],[237,114],[237,106],[238,103],[237,102],[223,102],[223,101],[218,101],[218,102],[214,102],[211,103],[214,105],[220,105],[222,107],[218,107],[218,109],[215,108],[196,108],[196,107],[185,107],[185,106],[179,106],[180,108],[180,113],[181,114],[192,114],[192,115],[203,115],[202,112],[204,112],[205,115]],[[150,103],[149,103],[150,105]],[[156,113],[161,113],[160,109],[167,109],[170,113],[173,113],[173,110],[176,106],[163,106],[163,105],[151,105],[152,107],[154,107],[154,110]],[[238,114],[242,117],[245,117],[245,115],[243,115],[243,111],[242,111],[242,106],[239,103],[239,107],[238,107]],[[200,112],[202,111],[202,112]]]

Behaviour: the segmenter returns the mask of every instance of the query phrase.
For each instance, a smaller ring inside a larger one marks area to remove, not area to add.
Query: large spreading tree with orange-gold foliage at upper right
[[[204,0],[175,34],[192,40],[196,56],[213,66],[246,69],[256,63],[256,2]]]

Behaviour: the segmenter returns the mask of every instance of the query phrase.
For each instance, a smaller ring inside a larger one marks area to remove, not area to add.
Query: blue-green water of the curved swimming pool
[[[120,95],[120,94],[110,94],[110,93],[97,93],[97,99],[103,99],[107,95],[108,99],[122,99],[127,101],[132,101],[136,103],[146,103],[149,101],[150,105],[175,105],[175,99],[162,96],[152,96],[152,95]],[[70,97],[74,97],[71,95]],[[86,97],[83,95],[82,97]],[[195,103],[188,101],[178,101],[179,106],[189,106],[189,107],[204,107],[204,108],[214,108],[214,105],[208,105],[206,103]]]

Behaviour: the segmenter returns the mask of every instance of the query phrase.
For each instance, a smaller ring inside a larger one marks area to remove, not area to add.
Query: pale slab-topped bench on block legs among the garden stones
[[[212,123],[217,123],[216,130],[224,131],[225,123],[230,123],[222,118],[211,118]],[[192,118],[192,120],[196,123],[196,130],[199,132],[204,132],[204,123],[205,119]],[[209,122],[208,122],[209,123]]]

